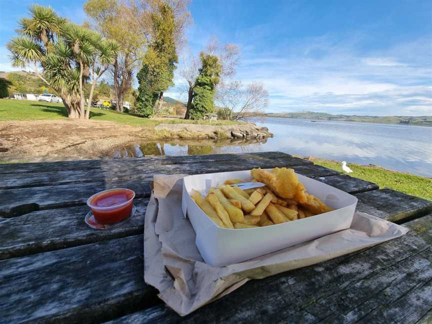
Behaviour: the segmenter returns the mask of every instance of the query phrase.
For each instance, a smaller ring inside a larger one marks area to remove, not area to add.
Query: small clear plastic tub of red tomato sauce
[[[113,224],[124,218],[130,216],[132,211],[132,201],[130,200],[133,197],[133,191],[124,190],[124,189],[116,189],[112,191],[102,192],[100,194],[95,195],[89,202],[90,205],[95,207],[91,208],[93,212],[94,219],[99,224]],[[126,201],[130,200],[128,203],[119,206],[113,207],[110,209],[97,209],[98,207],[110,207],[115,206]]]

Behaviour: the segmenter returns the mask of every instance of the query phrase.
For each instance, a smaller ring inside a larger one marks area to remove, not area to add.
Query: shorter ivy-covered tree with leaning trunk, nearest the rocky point
[[[214,93],[219,82],[221,65],[216,55],[200,53],[202,66],[196,77],[193,101],[187,118],[202,119],[206,113],[212,112],[214,107]]]

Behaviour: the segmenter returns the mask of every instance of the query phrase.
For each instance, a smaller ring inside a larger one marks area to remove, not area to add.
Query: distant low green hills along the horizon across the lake
[[[357,121],[357,122],[376,122],[376,123],[393,123],[407,124],[418,126],[432,126],[432,116],[358,116],[331,114],[326,112],[315,111],[296,111],[283,113],[266,113],[267,117],[284,117],[299,118],[311,120],[335,120],[335,121]]]

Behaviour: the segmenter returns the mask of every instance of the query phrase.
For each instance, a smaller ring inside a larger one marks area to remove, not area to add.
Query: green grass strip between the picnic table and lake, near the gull
[[[322,165],[333,170],[343,172],[340,162],[317,159],[315,164]],[[413,174],[396,172],[379,166],[359,165],[348,163],[352,173],[349,175],[374,182],[380,188],[390,188],[397,191],[412,194],[417,197],[432,200],[432,179]]]

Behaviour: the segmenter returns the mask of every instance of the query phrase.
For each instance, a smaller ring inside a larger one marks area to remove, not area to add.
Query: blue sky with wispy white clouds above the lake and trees
[[[34,1],[0,0],[0,70],[5,44]],[[37,1],[80,23],[84,1]],[[432,1],[195,0],[187,49],[210,37],[237,43],[236,78],[263,82],[268,111],[432,115]],[[180,61],[181,64],[181,61]],[[182,80],[167,95],[184,98]]]

